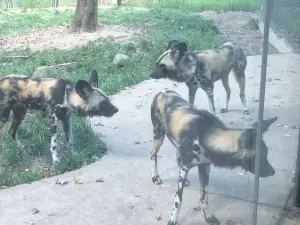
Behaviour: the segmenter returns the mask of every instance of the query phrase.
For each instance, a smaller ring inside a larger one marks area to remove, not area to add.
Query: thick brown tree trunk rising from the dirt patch
[[[95,32],[98,27],[98,0],[77,0],[69,32]]]

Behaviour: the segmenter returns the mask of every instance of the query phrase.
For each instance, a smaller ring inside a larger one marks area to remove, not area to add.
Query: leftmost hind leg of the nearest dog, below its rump
[[[159,120],[154,121],[153,128],[153,140],[152,140],[152,152],[151,152],[151,160],[152,160],[152,182],[154,184],[161,184],[162,181],[159,177],[157,170],[157,153],[162,146],[165,139],[165,131],[160,124]]]

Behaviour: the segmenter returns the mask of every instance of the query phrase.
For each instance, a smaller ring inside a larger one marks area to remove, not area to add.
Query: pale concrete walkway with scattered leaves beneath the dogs
[[[217,115],[229,126],[245,127],[257,119],[261,56],[248,57],[247,97],[251,114],[241,114],[237,84],[230,77],[232,97],[227,114]],[[275,224],[285,205],[297,148],[297,129],[277,124],[298,125],[300,121],[300,56],[272,55],[268,61],[265,117],[278,116],[264,136],[269,159],[276,169],[273,177],[260,180],[258,224]],[[103,126],[94,126],[105,133],[109,151],[98,162],[80,170],[60,175],[69,180],[64,186],[54,185],[58,177],[0,191],[1,225],[149,225],[167,224],[177,188],[175,149],[168,139],[162,146],[158,169],[161,186],[151,181],[150,151],[152,125],[150,104],[153,96],[164,88],[176,90],[187,98],[184,84],[174,86],[168,80],[147,80],[113,96],[120,111],[113,118],[102,118]],[[216,108],[225,101],[225,91],[215,85]],[[196,106],[208,109],[207,98],[199,90]],[[251,121],[251,119],[253,119]],[[93,124],[99,120],[92,121]],[[233,220],[250,225],[254,176],[238,175],[239,170],[212,167],[209,205],[222,224]],[[74,178],[83,180],[76,185]],[[103,183],[96,179],[103,178]],[[184,189],[179,214],[181,225],[205,224],[200,212],[193,211],[199,199],[197,169],[189,173],[190,186]],[[31,209],[39,209],[32,214]],[[161,220],[159,220],[161,219]]]

